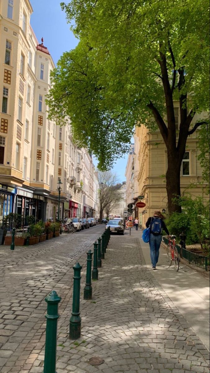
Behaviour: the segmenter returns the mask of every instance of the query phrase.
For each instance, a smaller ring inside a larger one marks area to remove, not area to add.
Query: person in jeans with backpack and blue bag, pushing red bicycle
[[[162,240],[162,230],[169,235],[169,231],[164,223],[164,216],[160,212],[160,210],[155,210],[154,215],[149,217],[146,222],[146,227],[150,226],[150,258],[152,263],[152,268],[156,269],[156,264],[159,258],[159,249]]]

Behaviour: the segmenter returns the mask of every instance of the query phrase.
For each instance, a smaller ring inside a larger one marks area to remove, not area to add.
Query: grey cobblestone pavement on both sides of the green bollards
[[[111,237],[98,281],[92,282],[93,299],[83,300],[86,251],[98,236],[93,231],[62,235],[12,254],[0,250],[1,372],[43,372],[44,297],[51,289],[62,297],[57,373],[209,372],[209,352],[145,266],[137,238]],[[81,338],[71,341],[72,265],[77,260],[83,265],[82,329]],[[89,364],[95,356],[104,362]]]

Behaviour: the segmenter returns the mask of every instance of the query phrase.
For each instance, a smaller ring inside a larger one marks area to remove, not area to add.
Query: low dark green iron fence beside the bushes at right
[[[169,243],[169,240],[167,238],[163,238],[163,240],[166,245]],[[176,248],[178,250],[179,256],[186,259],[189,264],[193,263],[200,268],[204,268],[206,271],[208,270],[209,257],[192,253],[192,251],[189,251],[181,247],[180,245],[176,245]]]

